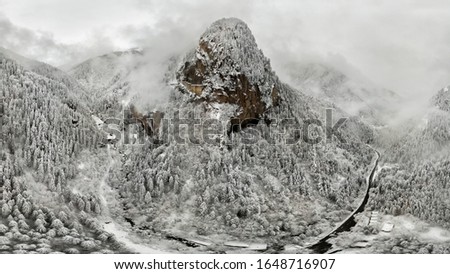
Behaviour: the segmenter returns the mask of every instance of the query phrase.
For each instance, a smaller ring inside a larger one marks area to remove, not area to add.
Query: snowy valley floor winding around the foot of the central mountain
[[[97,193],[102,201],[102,214],[98,216],[103,229],[115,235],[126,249],[132,253],[309,253],[308,244],[289,244],[289,239],[283,241],[283,246],[274,249],[267,246],[262,238],[240,240],[230,235],[198,236],[188,233],[162,235],[151,231],[142,231],[132,227],[125,220],[120,198],[112,189],[108,180],[110,173],[120,164],[120,154],[113,149],[105,149],[98,155],[86,154],[79,163],[82,177],[72,183],[73,191],[81,193]],[[75,188],[76,186],[76,188]],[[425,244],[450,245],[448,230],[430,226],[413,216],[380,215],[377,229],[369,225],[371,212],[366,210],[357,217],[357,225],[349,232],[340,233],[330,239],[333,244],[332,253],[391,253],[396,252],[395,246],[408,242],[403,252],[419,252]],[[383,224],[390,223],[393,229],[382,232]],[[169,237],[168,237],[169,236]],[[414,239],[414,241],[412,241]],[[286,242],[288,244],[286,244]],[[311,241],[310,241],[311,242]],[[412,245],[412,246],[409,246]],[[417,250],[416,250],[417,249]],[[398,251],[398,250],[397,250]],[[422,250],[423,251],[423,250]]]

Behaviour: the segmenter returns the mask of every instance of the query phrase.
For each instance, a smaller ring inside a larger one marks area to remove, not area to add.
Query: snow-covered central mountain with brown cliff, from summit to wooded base
[[[241,239],[257,231],[276,241],[290,233],[318,235],[335,225],[318,216],[352,208],[374,157],[350,130],[361,124],[349,121],[342,143],[325,142],[325,122],[302,138],[302,126],[321,120],[327,103],[283,84],[244,22],[214,22],[176,73],[165,118],[179,117],[192,131],[167,124],[158,146],[131,148],[122,175],[127,180],[115,183],[137,226]],[[205,124],[214,137],[202,138],[199,125],[213,118],[225,128]],[[314,136],[323,142],[308,143]],[[308,217],[310,210],[316,217]]]

